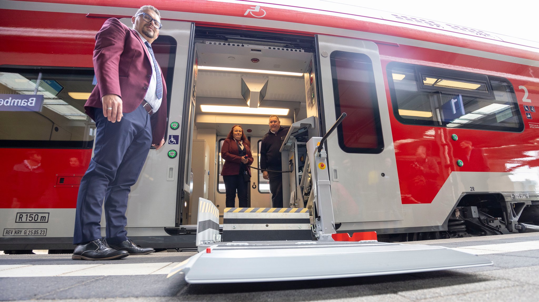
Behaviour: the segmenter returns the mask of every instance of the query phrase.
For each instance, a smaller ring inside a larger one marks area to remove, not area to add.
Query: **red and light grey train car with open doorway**
[[[72,248],[95,135],[83,108],[94,37],[106,18],[130,25],[144,4],[3,2],[1,250]],[[192,247],[198,198],[224,209],[220,141],[241,124],[258,154],[272,112],[284,126],[312,118],[308,136],[348,114],[325,146],[337,232],[414,240],[537,230],[537,42],[354,6],[153,5],[170,127],[130,195],[136,242]],[[265,95],[246,105],[242,92],[259,80]],[[41,105],[29,111],[32,97]],[[307,175],[298,141],[292,157]],[[306,206],[303,174],[283,177],[285,204]],[[268,193],[253,177],[250,205],[270,207]]]

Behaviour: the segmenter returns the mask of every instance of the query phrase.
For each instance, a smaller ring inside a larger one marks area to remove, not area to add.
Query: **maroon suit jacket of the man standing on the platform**
[[[122,98],[122,111],[134,111],[144,100],[151,77],[151,56],[139,34],[116,18],[105,21],[95,35],[94,70],[98,84],[86,104],[86,114],[94,118],[92,107],[102,108],[101,97]],[[167,128],[167,87],[163,73],[163,99],[151,116],[151,143],[160,143]]]

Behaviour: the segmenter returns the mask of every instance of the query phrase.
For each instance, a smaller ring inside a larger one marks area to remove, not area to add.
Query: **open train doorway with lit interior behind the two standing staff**
[[[309,36],[196,29],[190,104],[184,111],[190,122],[179,188],[181,225],[196,225],[199,197],[211,200],[223,213],[226,190],[220,176],[224,164],[220,148],[233,125],[243,127],[250,140],[252,167],[258,168],[269,116],[279,116],[283,127],[318,117],[314,50],[314,37]],[[249,206],[271,207],[268,181],[259,170],[251,169],[251,174]],[[283,177],[285,207],[288,178]]]

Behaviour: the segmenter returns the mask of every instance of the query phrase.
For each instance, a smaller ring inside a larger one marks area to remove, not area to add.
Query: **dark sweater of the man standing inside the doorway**
[[[282,142],[288,133],[288,127],[280,127],[277,133],[268,131],[262,138],[260,146],[260,169],[281,170]]]

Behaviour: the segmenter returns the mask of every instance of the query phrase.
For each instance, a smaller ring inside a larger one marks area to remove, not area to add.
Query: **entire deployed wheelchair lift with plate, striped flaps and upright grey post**
[[[301,121],[294,124],[300,125]],[[291,131],[293,129],[291,127]],[[308,202],[312,203],[312,210],[316,209],[312,229],[314,238],[318,240],[285,241],[282,238],[282,241],[220,242],[217,207],[210,200],[200,198],[197,228],[199,253],[179,263],[168,277],[182,272],[188,283],[268,282],[404,274],[493,264],[480,256],[445,247],[376,240],[334,241],[334,238],[341,236],[335,234],[328,169],[324,169],[327,161],[323,141],[322,138],[313,137],[307,142],[310,171]],[[305,176],[303,179],[306,179]],[[302,187],[307,182],[303,179]],[[235,208],[230,211],[243,211],[244,214],[242,220],[233,220],[235,225],[224,225],[223,232],[234,227],[243,229],[248,225],[252,225],[253,229],[274,227],[272,217],[259,210]],[[287,210],[271,208],[268,211],[285,213]],[[226,211],[224,214],[227,214]],[[265,223],[264,219],[270,220]],[[283,218],[279,216],[277,219]],[[291,225],[294,225],[292,220]]]

